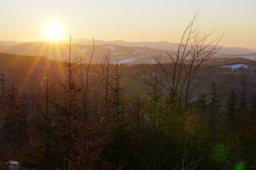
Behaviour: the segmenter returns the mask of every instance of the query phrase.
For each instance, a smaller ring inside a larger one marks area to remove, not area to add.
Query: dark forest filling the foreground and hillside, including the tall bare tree
[[[195,19],[169,62],[1,53],[0,169],[256,169],[255,66],[218,75]]]

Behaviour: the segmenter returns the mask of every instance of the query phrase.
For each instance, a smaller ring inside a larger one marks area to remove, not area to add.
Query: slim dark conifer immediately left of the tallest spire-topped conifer
[[[42,85],[42,111],[36,128],[38,133],[38,165],[40,169],[56,169],[60,160],[57,133],[55,132],[56,113],[53,111],[53,93],[55,83],[49,84],[49,71],[46,73],[46,82]]]

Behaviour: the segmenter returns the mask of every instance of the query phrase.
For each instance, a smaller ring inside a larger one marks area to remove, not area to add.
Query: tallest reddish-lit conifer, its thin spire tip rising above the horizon
[[[71,165],[75,164],[73,161],[74,155],[77,155],[75,151],[75,145],[79,140],[81,132],[81,122],[84,122],[81,105],[79,105],[78,91],[79,86],[76,83],[77,76],[77,58],[71,59],[71,36],[69,36],[69,58],[64,61],[59,61],[65,69],[67,69],[64,77],[64,81],[58,79],[59,86],[61,87],[61,97],[59,103],[55,103],[58,110],[57,118],[57,130],[59,134],[59,142],[61,142],[61,148],[63,149],[63,167],[68,169]],[[81,119],[82,118],[82,119]]]

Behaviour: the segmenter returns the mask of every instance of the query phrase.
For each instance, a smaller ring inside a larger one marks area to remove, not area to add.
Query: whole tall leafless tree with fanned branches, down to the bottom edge
[[[198,13],[195,13],[185,28],[177,51],[166,51],[171,64],[162,62],[161,56],[154,56],[158,66],[155,69],[158,77],[152,77],[152,82],[147,83],[153,88],[151,93],[160,92],[162,100],[165,101],[164,112],[167,110],[170,116],[168,124],[172,124],[166,132],[181,132],[183,136],[183,159],[177,166],[179,169],[195,169],[200,160],[187,162],[191,148],[191,134],[196,122],[196,116],[193,116],[192,112],[196,103],[193,101],[193,95],[201,83],[199,73],[205,69],[202,67],[203,64],[220,50],[218,44],[223,36],[210,40],[213,32],[203,33],[197,26],[197,17]],[[158,112],[158,116],[159,114],[162,113]],[[179,138],[179,134],[174,134],[172,137]]]

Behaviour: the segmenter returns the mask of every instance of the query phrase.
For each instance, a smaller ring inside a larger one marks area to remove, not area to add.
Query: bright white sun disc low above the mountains
[[[46,24],[46,36],[49,40],[59,40],[63,33],[63,28],[59,22],[49,22]]]

